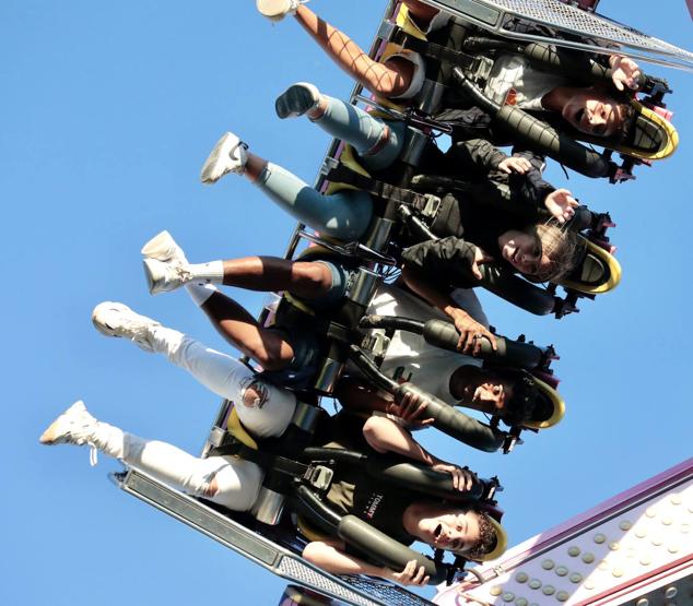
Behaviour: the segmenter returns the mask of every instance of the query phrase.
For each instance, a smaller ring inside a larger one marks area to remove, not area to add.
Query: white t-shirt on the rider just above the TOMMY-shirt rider
[[[473,290],[457,289],[453,296],[474,320],[488,326],[486,317]],[[449,318],[443,312],[389,284],[378,288],[367,313],[400,316],[419,321],[441,319],[449,322]],[[385,331],[373,332],[384,333]],[[450,393],[450,377],[460,366],[469,365],[481,366],[481,360],[430,345],[421,335],[397,331],[387,348],[380,370],[388,377],[395,377],[401,369],[406,380],[454,404],[456,399]]]

